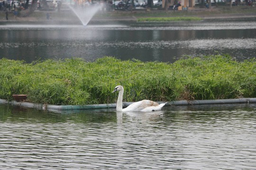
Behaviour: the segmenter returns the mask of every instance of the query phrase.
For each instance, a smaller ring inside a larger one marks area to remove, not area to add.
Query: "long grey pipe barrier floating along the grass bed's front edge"
[[[127,107],[132,102],[123,102],[123,107]],[[158,102],[163,103],[163,102]],[[240,98],[240,99],[218,99],[218,100],[180,100],[167,102],[165,105],[196,105],[196,104],[226,104],[226,103],[256,103],[256,98]],[[108,109],[115,108],[116,103],[110,104],[90,104],[90,105],[48,105],[36,104],[31,102],[16,102],[0,99],[0,104],[11,104],[28,108],[36,108],[39,110],[84,110],[84,109]]]

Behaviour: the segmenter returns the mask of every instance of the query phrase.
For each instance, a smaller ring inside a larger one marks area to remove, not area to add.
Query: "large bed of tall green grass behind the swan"
[[[256,60],[226,55],[180,59],[172,64],[104,57],[24,61],[0,59],[0,98],[27,94],[34,103],[82,105],[114,103],[116,85],[124,100],[153,101],[256,97]]]

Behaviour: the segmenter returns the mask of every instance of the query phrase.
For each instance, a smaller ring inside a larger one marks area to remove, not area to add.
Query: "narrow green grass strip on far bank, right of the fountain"
[[[201,17],[141,17],[137,22],[200,21]]]

